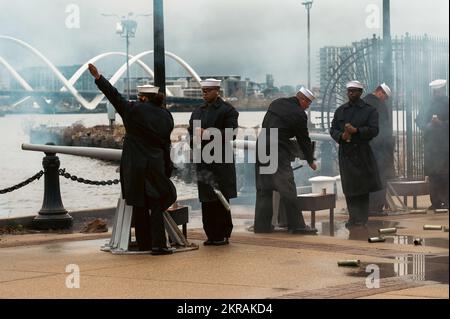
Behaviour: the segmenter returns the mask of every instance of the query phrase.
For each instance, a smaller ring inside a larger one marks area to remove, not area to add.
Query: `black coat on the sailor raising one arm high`
[[[158,200],[166,210],[176,200],[170,181],[172,115],[152,103],[125,100],[103,76],[95,83],[122,117],[126,130],[120,162],[123,198],[138,207],[145,207],[146,197]]]

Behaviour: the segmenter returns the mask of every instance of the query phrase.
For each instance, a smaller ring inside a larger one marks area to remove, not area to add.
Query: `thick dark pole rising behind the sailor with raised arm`
[[[166,62],[164,49],[164,10],[163,0],[153,0],[153,41],[155,49],[155,86],[166,93]]]

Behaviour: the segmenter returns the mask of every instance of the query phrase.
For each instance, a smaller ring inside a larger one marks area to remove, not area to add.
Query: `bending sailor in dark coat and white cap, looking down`
[[[281,98],[273,101],[264,117],[262,129],[257,143],[257,161],[255,165],[256,177],[256,205],[255,205],[255,233],[269,233],[272,231],[273,192],[280,194],[280,204],[286,211],[288,231],[291,233],[315,234],[305,224],[301,214],[301,208],[297,201],[297,187],[294,181],[294,173],[291,162],[295,160],[294,147],[291,138],[297,139],[298,147],[303,152],[306,161],[312,169],[316,169],[314,163],[313,147],[308,132],[308,116],[305,110],[311,104],[314,95],[311,91],[302,88],[297,96]],[[272,130],[276,130],[278,136],[275,139]],[[262,140],[267,141],[266,145]],[[269,142],[270,141],[270,142]],[[271,154],[271,144],[277,147],[277,157]],[[260,154],[260,148],[265,146],[265,154]],[[270,155],[270,161],[263,163],[264,155]],[[276,162],[277,160],[277,162]],[[276,162],[276,171],[272,174],[265,173],[262,169],[268,169]]]

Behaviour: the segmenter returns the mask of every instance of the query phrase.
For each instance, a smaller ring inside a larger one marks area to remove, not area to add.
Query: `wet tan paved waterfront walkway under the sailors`
[[[448,213],[373,218],[367,230],[349,233],[338,210],[335,237],[326,235],[326,212],[318,213],[325,233],[318,236],[249,232],[251,206],[233,207],[233,218],[231,244],[205,247],[199,213],[192,212],[188,239],[200,249],[170,256],[101,252],[110,232],[2,235],[0,298],[449,297],[448,232],[423,230],[424,224],[448,227]],[[367,242],[385,227],[397,227],[397,236]],[[424,238],[422,245],[413,244],[416,237]],[[361,266],[337,266],[347,259],[359,259]],[[70,264],[80,269],[80,288],[66,287]],[[366,286],[369,264],[380,269],[379,288]]]

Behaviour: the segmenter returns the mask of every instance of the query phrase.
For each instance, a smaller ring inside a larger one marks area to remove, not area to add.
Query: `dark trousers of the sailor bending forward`
[[[303,215],[300,214],[298,207],[297,194],[291,192],[280,193],[280,206],[283,205],[285,210],[287,226],[289,230],[304,228],[306,226]],[[272,231],[273,216],[273,191],[257,190],[255,205],[255,233],[269,233]]]

